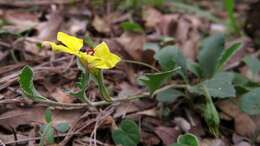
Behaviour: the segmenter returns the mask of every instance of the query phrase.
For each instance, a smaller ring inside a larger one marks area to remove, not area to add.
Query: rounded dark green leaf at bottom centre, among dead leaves
[[[137,146],[140,140],[138,126],[132,120],[124,120],[118,129],[112,131],[112,138],[122,146]]]

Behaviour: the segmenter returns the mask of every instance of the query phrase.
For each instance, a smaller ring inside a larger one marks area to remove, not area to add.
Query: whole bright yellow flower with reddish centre
[[[86,52],[81,51],[83,40],[58,32],[57,40],[62,45],[57,45],[53,42],[44,42],[51,46],[56,52],[64,52],[79,57],[82,64],[88,69],[110,69],[116,66],[121,60],[119,56],[110,52],[109,47],[105,42],[100,43],[94,49],[88,49]]]

